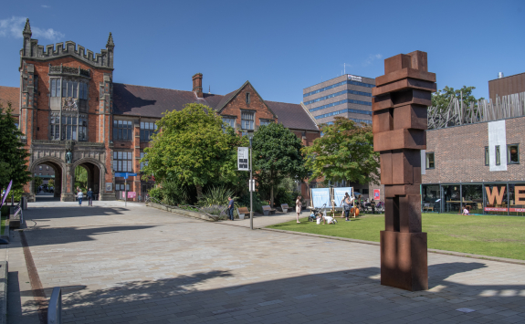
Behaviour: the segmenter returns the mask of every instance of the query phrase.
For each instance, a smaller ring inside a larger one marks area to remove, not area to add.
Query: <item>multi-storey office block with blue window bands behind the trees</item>
[[[374,78],[344,74],[302,90],[302,101],[316,123],[330,124],[335,116],[372,124]]]

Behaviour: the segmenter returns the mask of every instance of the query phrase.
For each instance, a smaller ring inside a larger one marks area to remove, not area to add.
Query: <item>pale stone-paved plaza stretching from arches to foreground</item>
[[[6,252],[9,323],[40,323],[21,235],[65,323],[525,322],[525,266],[430,253],[430,289],[408,292],[380,285],[379,246],[95,205],[29,204]]]

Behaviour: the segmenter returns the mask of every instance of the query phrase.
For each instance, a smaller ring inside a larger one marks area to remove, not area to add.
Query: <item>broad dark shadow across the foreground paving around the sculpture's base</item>
[[[418,292],[381,286],[378,267],[287,277],[247,285],[242,284],[243,277],[236,278],[229,271],[210,271],[159,280],[123,282],[117,287],[105,289],[73,291],[64,296],[63,309],[65,319],[85,316],[95,322],[147,319],[155,323],[185,320],[195,323],[243,323],[249,319],[250,322],[263,323],[379,323],[396,319],[403,319],[402,322],[452,318],[456,322],[480,317],[487,319],[484,322],[502,319],[518,322],[525,319],[525,298],[520,296],[520,293],[525,293],[524,285],[467,286],[447,280],[457,273],[482,267],[486,266],[478,262],[430,266],[431,287],[441,288]],[[222,279],[216,282],[218,277]],[[235,279],[238,281],[232,282]],[[206,281],[214,287],[223,287],[205,288]],[[233,285],[224,287],[225,284]],[[487,294],[488,291],[490,294]],[[509,294],[509,291],[514,293]],[[456,311],[457,308],[473,308],[476,311],[462,313]]]

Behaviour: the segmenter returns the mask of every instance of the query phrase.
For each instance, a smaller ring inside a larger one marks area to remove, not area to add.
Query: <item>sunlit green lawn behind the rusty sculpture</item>
[[[294,220],[268,228],[375,242],[384,230],[383,214],[337,220],[337,225],[316,225],[303,218],[301,224]],[[423,232],[428,233],[429,248],[525,260],[525,217],[423,214]]]

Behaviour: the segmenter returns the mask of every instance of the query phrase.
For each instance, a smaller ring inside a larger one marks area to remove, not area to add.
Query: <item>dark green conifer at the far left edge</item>
[[[6,188],[13,180],[12,190],[22,190],[31,181],[31,173],[26,166],[26,159],[31,154],[20,141],[24,134],[18,131],[12,111],[10,102],[6,110],[0,104],[0,187]]]

